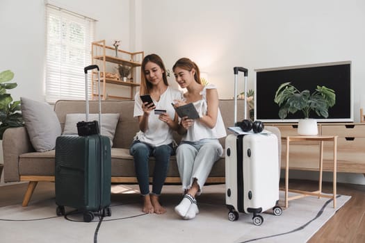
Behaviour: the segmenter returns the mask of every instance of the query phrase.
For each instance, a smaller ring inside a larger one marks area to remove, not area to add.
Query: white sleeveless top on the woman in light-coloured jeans
[[[193,102],[193,105],[195,106],[195,109],[199,113],[200,117],[206,115],[206,112],[208,111],[208,104],[206,103],[206,90],[209,89],[216,89],[216,86],[212,84],[204,86],[203,90],[200,92],[202,99]],[[220,115],[220,110],[218,107],[216,126],[209,128],[202,124],[199,119],[196,119],[193,126],[188,128],[188,131],[186,132],[186,135],[182,137],[182,140],[196,142],[202,139],[218,139],[220,137],[225,137],[226,135],[227,133],[225,131],[225,124],[223,123],[222,115]]]

